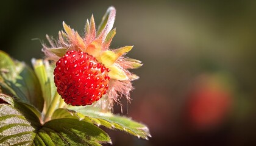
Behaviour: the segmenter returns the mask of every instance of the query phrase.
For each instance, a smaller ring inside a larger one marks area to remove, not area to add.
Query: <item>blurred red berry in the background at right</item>
[[[196,79],[188,99],[188,119],[198,129],[221,125],[232,107],[230,91],[218,79],[202,75]]]

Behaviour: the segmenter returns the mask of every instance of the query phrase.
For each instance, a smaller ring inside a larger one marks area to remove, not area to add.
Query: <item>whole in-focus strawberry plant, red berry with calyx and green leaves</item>
[[[98,30],[91,16],[85,35],[63,23],[57,40],[46,35],[43,59],[27,64],[0,50],[0,145],[101,145],[112,143],[101,127],[148,139],[148,127],[113,114],[130,100],[128,69],[141,62],[125,57],[132,46],[110,49],[116,10],[109,7]]]

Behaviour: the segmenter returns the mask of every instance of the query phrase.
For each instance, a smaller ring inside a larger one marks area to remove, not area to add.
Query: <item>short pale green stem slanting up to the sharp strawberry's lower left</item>
[[[47,122],[48,120],[51,119],[52,114],[55,111],[56,105],[57,103],[60,101],[60,95],[58,94],[58,92],[55,92],[54,98],[52,99],[51,104],[49,105],[48,110],[46,111],[46,114],[44,116],[44,122]]]

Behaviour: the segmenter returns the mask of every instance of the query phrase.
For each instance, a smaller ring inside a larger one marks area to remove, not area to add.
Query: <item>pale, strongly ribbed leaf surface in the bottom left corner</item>
[[[31,145],[34,130],[18,109],[0,104],[0,145]]]

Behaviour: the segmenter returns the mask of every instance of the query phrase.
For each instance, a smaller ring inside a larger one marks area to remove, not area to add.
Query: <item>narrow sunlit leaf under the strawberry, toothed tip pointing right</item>
[[[78,120],[94,123],[98,126],[103,125],[104,127],[110,129],[126,131],[127,133],[141,137],[143,139],[148,139],[148,137],[151,137],[148,127],[142,123],[135,122],[128,117],[116,116],[112,113],[101,113],[98,111],[79,107],[71,107],[71,109],[75,109],[78,112],[74,110],[59,108],[52,115],[52,119],[60,119],[63,117],[75,118]]]

